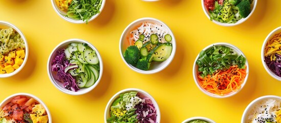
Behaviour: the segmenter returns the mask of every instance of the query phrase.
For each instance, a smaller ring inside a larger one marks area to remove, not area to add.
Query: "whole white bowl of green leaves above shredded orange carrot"
[[[205,47],[193,64],[193,79],[205,94],[225,98],[238,93],[249,76],[244,53],[229,43],[214,43]]]

